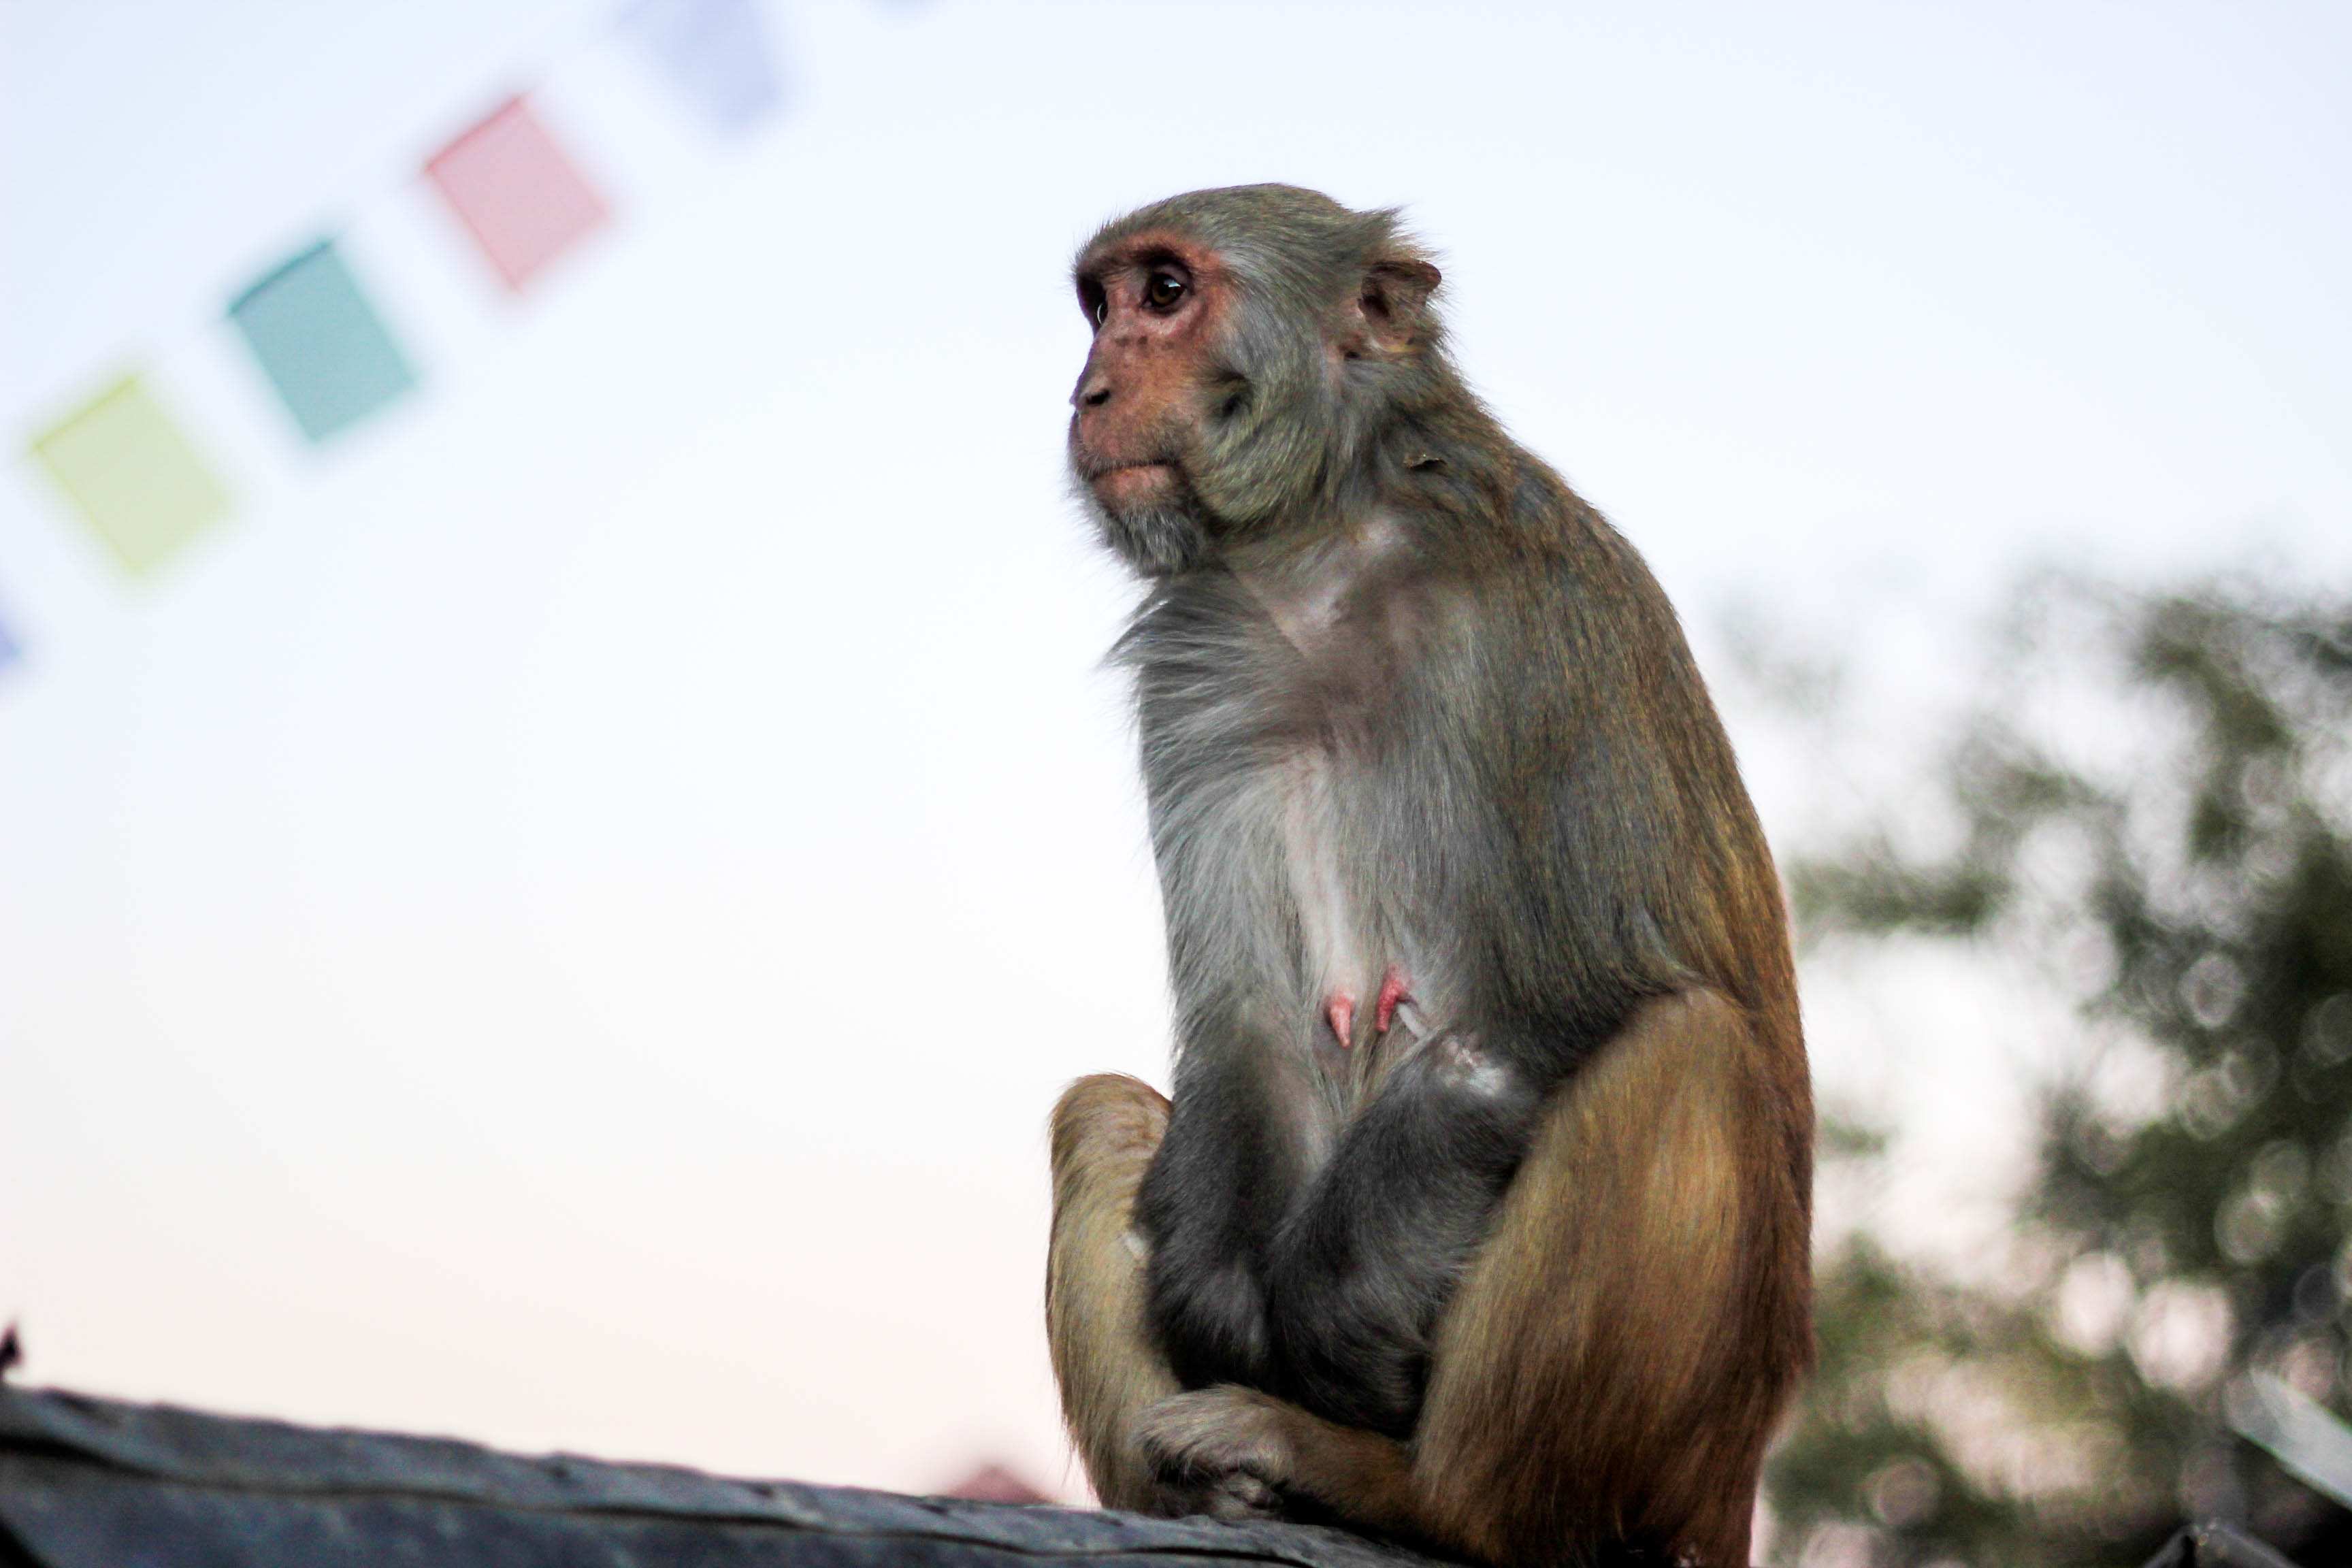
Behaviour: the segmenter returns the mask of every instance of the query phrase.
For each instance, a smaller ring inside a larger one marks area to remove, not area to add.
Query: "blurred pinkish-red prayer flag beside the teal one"
[[[522,99],[426,162],[508,289],[522,289],[609,212]]]

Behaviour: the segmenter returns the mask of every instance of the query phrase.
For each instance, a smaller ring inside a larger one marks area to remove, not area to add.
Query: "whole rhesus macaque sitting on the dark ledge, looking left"
[[[1110,1507],[1733,1568],[1811,1354],[1780,891],[1675,611],[1435,289],[1289,186],[1077,259],[1176,1098],[1054,1112],[1063,1413]]]

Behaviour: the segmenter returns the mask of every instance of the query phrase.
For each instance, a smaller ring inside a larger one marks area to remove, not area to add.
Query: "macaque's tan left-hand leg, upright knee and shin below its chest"
[[[1131,1443],[1136,1415],[1176,1392],[1143,1319],[1136,1187],[1167,1131],[1169,1103],[1103,1072],[1054,1107],[1054,1239],[1044,1265],[1044,1328],[1061,1415],[1103,1507],[1152,1509],[1160,1493]]]

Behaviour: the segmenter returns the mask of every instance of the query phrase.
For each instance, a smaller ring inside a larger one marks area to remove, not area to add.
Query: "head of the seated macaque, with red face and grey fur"
[[[1395,212],[1195,190],[1103,226],[1075,277],[1094,348],[1070,470],[1145,576],[1341,505],[1381,435],[1454,386],[1437,268]]]

